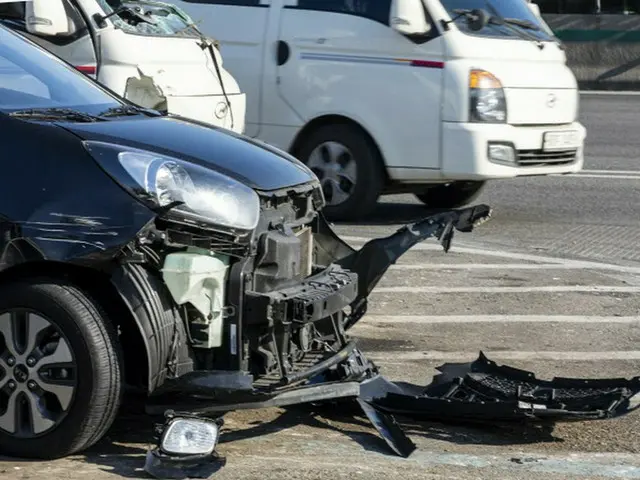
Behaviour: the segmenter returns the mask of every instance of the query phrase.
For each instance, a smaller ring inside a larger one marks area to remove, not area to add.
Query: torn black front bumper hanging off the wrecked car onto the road
[[[637,409],[640,377],[543,381],[533,373],[498,366],[482,353],[472,363],[439,367],[441,374],[427,386],[389,382],[348,339],[345,330],[363,317],[367,296],[398,257],[433,236],[448,250],[455,230],[470,231],[489,214],[488,207],[480,206],[433,215],[358,251],[330,229],[319,228],[316,248],[319,258],[324,255],[330,267],[295,286],[268,293],[247,292],[246,321],[251,322],[253,314],[256,322],[264,323],[266,318],[272,325],[313,323],[327,317],[333,321],[336,316],[339,348],[319,352],[304,368],[293,365],[280,371],[272,382],[248,381],[235,389],[229,386],[226,394],[216,381],[221,372],[204,372],[212,385],[208,399],[156,405],[155,411],[183,408],[190,414],[210,416],[247,408],[350,401],[371,420],[391,449],[406,457],[415,445],[396,422],[396,415],[418,420],[552,423],[614,418]],[[351,313],[341,316],[346,306],[351,307]],[[181,380],[179,389],[188,391],[190,382]]]

